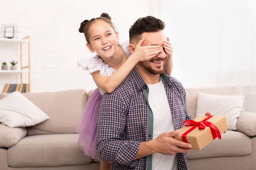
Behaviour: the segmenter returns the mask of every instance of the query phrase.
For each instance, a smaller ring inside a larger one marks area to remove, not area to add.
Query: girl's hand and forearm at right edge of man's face
[[[164,65],[164,72],[166,72],[166,74],[171,75],[172,68],[173,68],[173,59],[172,59],[173,48],[172,48],[171,42],[169,42],[169,37],[167,37],[167,41],[163,43],[163,48],[165,48],[164,51],[168,55],[168,58],[166,59],[166,63]]]

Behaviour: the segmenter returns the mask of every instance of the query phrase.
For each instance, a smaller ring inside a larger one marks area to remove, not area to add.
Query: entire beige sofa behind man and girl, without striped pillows
[[[239,95],[239,88],[186,89],[195,117],[198,92]],[[0,170],[99,170],[77,146],[76,125],[92,91],[23,94],[51,118],[27,128],[0,124]],[[1,94],[0,99],[6,96]],[[189,150],[190,170],[256,170],[256,113],[242,112],[237,131],[227,131],[203,150]],[[255,136],[255,137],[253,137]]]

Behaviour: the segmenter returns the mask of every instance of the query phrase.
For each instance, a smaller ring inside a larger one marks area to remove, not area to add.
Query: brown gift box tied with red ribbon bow
[[[185,125],[174,136],[181,142],[192,144],[191,149],[201,150],[214,139],[221,139],[221,133],[228,130],[225,116],[198,116],[194,120],[186,120]]]

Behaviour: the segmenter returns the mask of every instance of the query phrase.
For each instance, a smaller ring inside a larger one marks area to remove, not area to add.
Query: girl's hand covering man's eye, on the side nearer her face
[[[160,45],[141,46],[143,42],[144,38],[137,43],[134,50],[133,56],[135,57],[137,62],[151,59],[157,56],[157,54],[159,54],[163,50],[163,48]]]

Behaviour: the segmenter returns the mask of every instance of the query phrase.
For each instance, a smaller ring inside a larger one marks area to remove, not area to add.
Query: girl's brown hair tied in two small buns
[[[89,34],[88,34],[88,30],[90,28],[90,26],[95,23],[97,20],[103,20],[106,23],[108,23],[113,30],[116,32],[115,26],[113,25],[112,21],[111,21],[111,17],[107,14],[107,13],[102,13],[100,15],[100,17],[97,18],[92,18],[91,20],[84,20],[83,22],[81,22],[80,28],[79,28],[79,32],[84,33],[84,37],[86,39],[86,41],[90,44],[90,39],[89,39]]]

